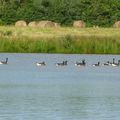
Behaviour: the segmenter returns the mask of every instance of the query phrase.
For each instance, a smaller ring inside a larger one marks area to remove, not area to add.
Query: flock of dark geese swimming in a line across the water
[[[0,61],[0,64],[8,64],[8,58],[6,58],[5,61]],[[43,61],[43,62],[37,62],[36,63],[37,66],[46,66],[46,63]],[[56,66],[67,66],[68,65],[68,61],[63,61],[61,63],[56,63]],[[85,62],[85,59],[83,59],[81,62],[76,62],[75,63],[75,66],[86,66],[86,62]],[[96,64],[92,64],[92,66],[96,66],[96,67],[99,67],[99,66],[113,66],[113,67],[117,67],[117,66],[120,66],[120,60],[118,60],[117,62],[115,62],[115,58],[113,58],[112,62],[110,61],[107,61],[106,63],[96,63]]]

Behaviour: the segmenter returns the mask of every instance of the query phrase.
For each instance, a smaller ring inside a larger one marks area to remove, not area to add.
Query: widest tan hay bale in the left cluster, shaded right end
[[[46,28],[46,27],[55,27],[54,22],[51,21],[39,21],[37,27]]]

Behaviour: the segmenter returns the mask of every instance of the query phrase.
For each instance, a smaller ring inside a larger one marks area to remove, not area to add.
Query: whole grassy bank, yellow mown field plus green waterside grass
[[[120,29],[1,26],[0,52],[120,54]]]

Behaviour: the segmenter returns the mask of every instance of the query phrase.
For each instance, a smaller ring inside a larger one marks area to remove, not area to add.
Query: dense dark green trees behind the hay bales
[[[120,20],[120,0],[0,0],[0,24],[18,20],[51,20],[70,26],[83,20],[87,26],[112,26]]]

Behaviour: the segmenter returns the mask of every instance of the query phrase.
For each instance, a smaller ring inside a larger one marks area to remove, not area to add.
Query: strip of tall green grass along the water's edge
[[[120,40],[112,37],[1,37],[0,52],[120,54]]]

